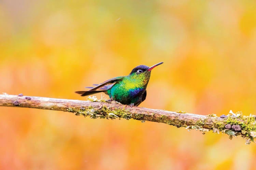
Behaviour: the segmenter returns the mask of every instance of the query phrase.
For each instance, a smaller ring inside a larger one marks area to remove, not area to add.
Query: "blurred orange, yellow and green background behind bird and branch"
[[[0,1],[0,92],[74,91],[152,71],[142,107],[256,114],[255,1]],[[101,95],[96,95],[101,98]],[[0,169],[254,169],[256,145],[137,120],[0,107]]]

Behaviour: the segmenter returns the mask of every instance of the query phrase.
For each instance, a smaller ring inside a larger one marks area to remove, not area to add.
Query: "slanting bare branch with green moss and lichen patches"
[[[0,95],[0,106],[27,107],[48,109],[55,111],[72,112],[75,115],[89,116],[90,118],[124,118],[141,121],[152,121],[174,125],[177,128],[196,129],[204,134],[209,130],[215,133],[223,132],[233,136],[241,135],[246,139],[246,144],[254,141],[256,137],[256,116],[242,116],[228,114],[217,117],[216,115],[196,115],[185,112],[171,112],[144,107],[130,107],[112,102],[108,104],[104,99],[98,100],[89,97],[87,101],[54,99],[44,97],[32,97],[20,95]]]

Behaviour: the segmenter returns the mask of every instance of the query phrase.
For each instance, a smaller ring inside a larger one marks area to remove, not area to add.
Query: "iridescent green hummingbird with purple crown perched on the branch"
[[[110,99],[107,101],[111,103],[113,100],[132,106],[138,106],[146,99],[146,87],[150,79],[151,70],[156,66],[163,64],[157,63],[151,67],[139,65],[133,68],[129,75],[119,76],[104,81],[101,84],[94,84],[95,87],[87,91],[75,91],[81,96],[92,95],[99,92],[104,92],[109,95]]]

